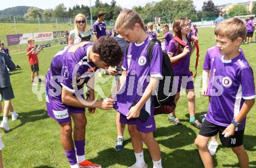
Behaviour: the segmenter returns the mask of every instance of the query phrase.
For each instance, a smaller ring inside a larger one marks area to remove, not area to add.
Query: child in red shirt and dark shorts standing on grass
[[[31,66],[31,83],[35,85],[34,76],[37,74],[38,83],[41,83],[41,78],[39,78],[39,66],[38,66],[38,58],[37,53],[35,53],[34,48],[34,38],[30,37],[27,39],[29,46],[27,47],[27,56],[29,57],[29,64]]]

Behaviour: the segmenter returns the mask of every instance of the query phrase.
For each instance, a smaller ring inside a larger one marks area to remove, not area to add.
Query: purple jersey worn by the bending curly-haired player
[[[83,85],[93,76],[95,65],[88,62],[93,42],[80,42],[63,48],[52,59],[46,75],[46,91],[50,98],[61,101],[61,88],[83,97]]]

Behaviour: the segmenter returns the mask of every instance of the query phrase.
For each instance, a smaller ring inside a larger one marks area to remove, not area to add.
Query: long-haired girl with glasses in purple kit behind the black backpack
[[[177,88],[177,93],[175,96],[175,103],[180,98],[180,88],[186,88],[187,99],[189,100],[189,122],[194,127],[200,129],[201,123],[195,119],[195,93],[194,93],[194,83],[193,76],[190,73],[190,56],[194,51],[195,47],[191,47],[191,40],[197,40],[197,37],[187,38],[187,34],[190,31],[190,24],[187,19],[181,18],[173,22],[173,31],[175,32],[175,38],[170,41],[168,48],[168,55],[170,62],[172,62],[173,72],[175,73],[175,87]],[[179,41],[186,45],[183,47]],[[170,113],[168,117],[170,123],[180,125],[179,119],[175,115],[175,110]]]

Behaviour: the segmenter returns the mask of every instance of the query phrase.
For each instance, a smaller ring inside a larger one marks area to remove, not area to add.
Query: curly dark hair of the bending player
[[[98,53],[99,58],[109,66],[118,66],[123,60],[120,45],[108,35],[99,37],[99,40],[93,45],[93,52]]]

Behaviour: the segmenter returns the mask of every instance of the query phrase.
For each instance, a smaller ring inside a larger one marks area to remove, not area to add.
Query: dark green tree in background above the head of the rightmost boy
[[[212,0],[208,0],[203,3],[202,11],[204,11],[204,17],[217,17],[220,12]]]

